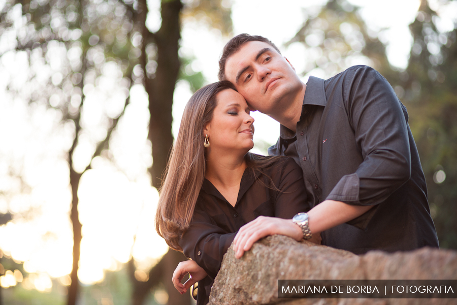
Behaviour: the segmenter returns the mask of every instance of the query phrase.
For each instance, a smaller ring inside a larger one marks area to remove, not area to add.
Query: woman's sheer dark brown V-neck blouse
[[[291,219],[298,212],[310,209],[302,170],[292,158],[281,158],[262,171],[271,180],[260,171],[250,168],[244,171],[235,207],[209,180],[203,182],[190,227],[179,240],[184,254],[208,273],[199,282],[199,305],[208,302],[222,258],[243,225],[258,216]]]

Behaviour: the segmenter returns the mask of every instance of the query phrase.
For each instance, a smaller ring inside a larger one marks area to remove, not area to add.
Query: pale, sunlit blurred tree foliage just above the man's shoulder
[[[333,76],[361,60],[370,58],[372,66],[383,75],[391,72],[385,46],[360,17],[360,8],[347,1],[330,0],[319,13],[305,20],[295,37],[286,43],[306,47],[307,67]]]

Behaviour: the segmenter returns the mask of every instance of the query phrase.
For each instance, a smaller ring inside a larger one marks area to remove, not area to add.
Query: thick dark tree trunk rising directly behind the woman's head
[[[145,75],[144,86],[149,98],[149,133],[148,139],[152,143],[153,164],[149,169],[152,186],[159,189],[162,174],[167,166],[170,150],[173,146],[172,134],[172,105],[176,80],[179,76],[180,60],[178,55],[179,39],[181,38],[180,13],[182,9],[180,0],[161,2],[162,24],[160,29],[152,34],[145,25],[147,6],[146,1],[139,2],[139,16],[143,27],[143,48],[141,64]],[[152,40],[157,46],[157,69],[155,77],[149,79],[146,73],[147,54],[146,44]],[[190,305],[188,294],[181,295],[173,286],[171,278],[173,271],[180,261],[186,260],[185,256],[174,250],[169,250],[161,261],[150,270],[149,280],[145,283],[137,281],[132,275],[135,272],[133,262],[130,265],[130,277],[133,283],[132,305],[142,305],[150,289],[164,283],[169,295],[169,305]]]

